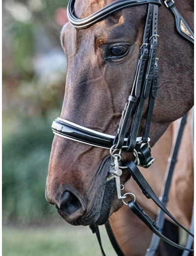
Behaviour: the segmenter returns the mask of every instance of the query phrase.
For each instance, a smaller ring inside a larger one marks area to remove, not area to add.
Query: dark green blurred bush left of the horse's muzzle
[[[9,135],[5,132],[2,142],[3,221],[31,222],[51,216],[45,199],[51,119],[31,118],[12,126],[16,129]]]

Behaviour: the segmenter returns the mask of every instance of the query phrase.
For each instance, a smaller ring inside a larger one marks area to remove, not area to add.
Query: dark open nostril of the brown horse
[[[59,209],[67,214],[72,214],[81,208],[81,203],[72,192],[66,191],[59,202]]]

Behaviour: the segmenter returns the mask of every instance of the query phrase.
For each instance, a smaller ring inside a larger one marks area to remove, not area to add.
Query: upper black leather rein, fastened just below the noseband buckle
[[[194,236],[189,230],[183,227],[173,216],[172,214],[166,209],[166,207],[162,204],[162,202],[158,199],[152,188],[147,183],[146,179],[141,174],[138,167],[135,165],[134,162],[129,161],[126,166],[128,167],[128,172],[132,175],[133,179],[136,180],[139,187],[142,189],[142,193],[147,197],[147,199],[151,198],[156,205],[158,205],[178,226],[180,226],[183,230],[188,232],[191,236]]]

